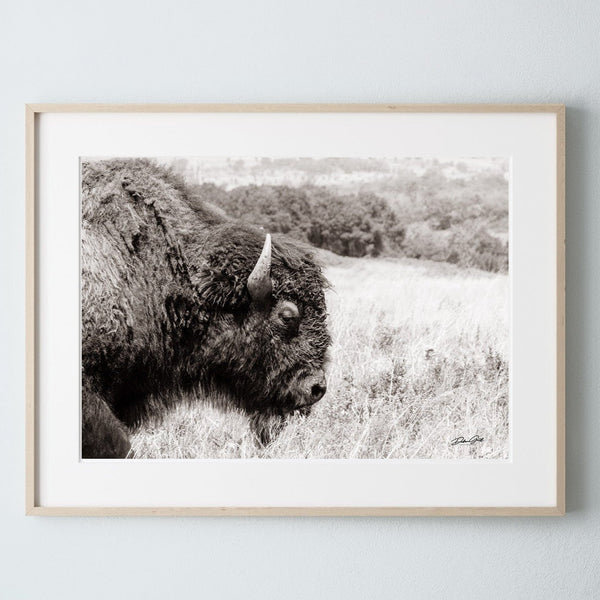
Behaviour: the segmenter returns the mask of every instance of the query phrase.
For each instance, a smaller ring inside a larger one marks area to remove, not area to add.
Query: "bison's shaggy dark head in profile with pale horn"
[[[202,335],[210,380],[249,412],[307,409],[327,387],[320,267],[284,236],[239,225],[217,228],[207,246],[196,288],[210,314]]]

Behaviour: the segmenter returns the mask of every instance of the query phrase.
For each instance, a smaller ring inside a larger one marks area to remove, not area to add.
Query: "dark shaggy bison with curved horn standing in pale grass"
[[[82,457],[177,399],[225,392],[263,444],[325,391],[326,280],[311,252],[233,222],[145,159],[81,168]]]

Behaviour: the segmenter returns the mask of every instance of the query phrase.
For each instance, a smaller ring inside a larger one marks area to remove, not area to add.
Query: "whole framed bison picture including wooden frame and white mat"
[[[562,515],[563,105],[28,105],[32,515]]]

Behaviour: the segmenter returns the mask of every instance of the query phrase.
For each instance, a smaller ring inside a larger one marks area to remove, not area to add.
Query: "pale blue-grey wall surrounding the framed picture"
[[[0,597],[600,597],[600,4],[0,5]],[[565,518],[25,518],[25,102],[565,102]]]

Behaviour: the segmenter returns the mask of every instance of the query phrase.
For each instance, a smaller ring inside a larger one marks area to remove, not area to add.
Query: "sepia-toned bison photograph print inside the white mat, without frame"
[[[82,457],[509,458],[509,159],[81,159]]]

